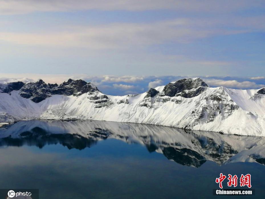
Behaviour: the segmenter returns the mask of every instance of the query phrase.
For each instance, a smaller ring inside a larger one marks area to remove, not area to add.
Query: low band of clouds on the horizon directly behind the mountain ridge
[[[60,84],[71,79],[83,79],[95,84],[99,90],[108,95],[127,95],[143,93],[150,88],[166,85],[169,82],[186,76],[90,76],[86,74],[7,74],[0,73],[0,80],[17,79],[19,81],[44,80],[46,83]],[[201,77],[209,86],[224,86],[233,89],[259,89],[265,87],[265,79],[261,77]]]

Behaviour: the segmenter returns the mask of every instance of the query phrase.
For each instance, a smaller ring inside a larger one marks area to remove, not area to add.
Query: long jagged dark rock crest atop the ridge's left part
[[[98,91],[97,87],[83,80],[69,79],[67,82],[60,84],[46,84],[39,80],[35,83],[30,82],[21,88],[20,96],[31,98],[33,102],[41,102],[52,95],[74,95],[79,96],[83,93]],[[107,96],[105,96],[107,97]],[[104,98],[105,98],[104,97]]]

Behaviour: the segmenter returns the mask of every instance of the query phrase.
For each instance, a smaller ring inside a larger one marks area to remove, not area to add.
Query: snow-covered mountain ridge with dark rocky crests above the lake
[[[9,82],[0,84],[0,122],[91,119],[265,136],[264,94],[265,88],[210,88],[200,78],[126,96],[104,95],[82,80]]]

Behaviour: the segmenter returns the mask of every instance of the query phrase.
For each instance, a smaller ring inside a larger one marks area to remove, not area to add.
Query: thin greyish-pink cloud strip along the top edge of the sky
[[[262,1],[247,0],[1,0],[0,14],[26,14],[32,12],[55,12],[77,10],[129,10],[143,11],[173,9],[176,11],[231,12],[234,10],[264,7]]]

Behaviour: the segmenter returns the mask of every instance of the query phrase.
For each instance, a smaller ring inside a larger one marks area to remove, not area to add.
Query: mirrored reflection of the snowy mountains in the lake
[[[258,162],[265,165],[265,137],[222,135],[166,126],[105,121],[20,121],[0,128],[0,146],[62,144],[82,150],[114,138],[139,143],[178,164],[200,167],[207,160],[219,165]]]

